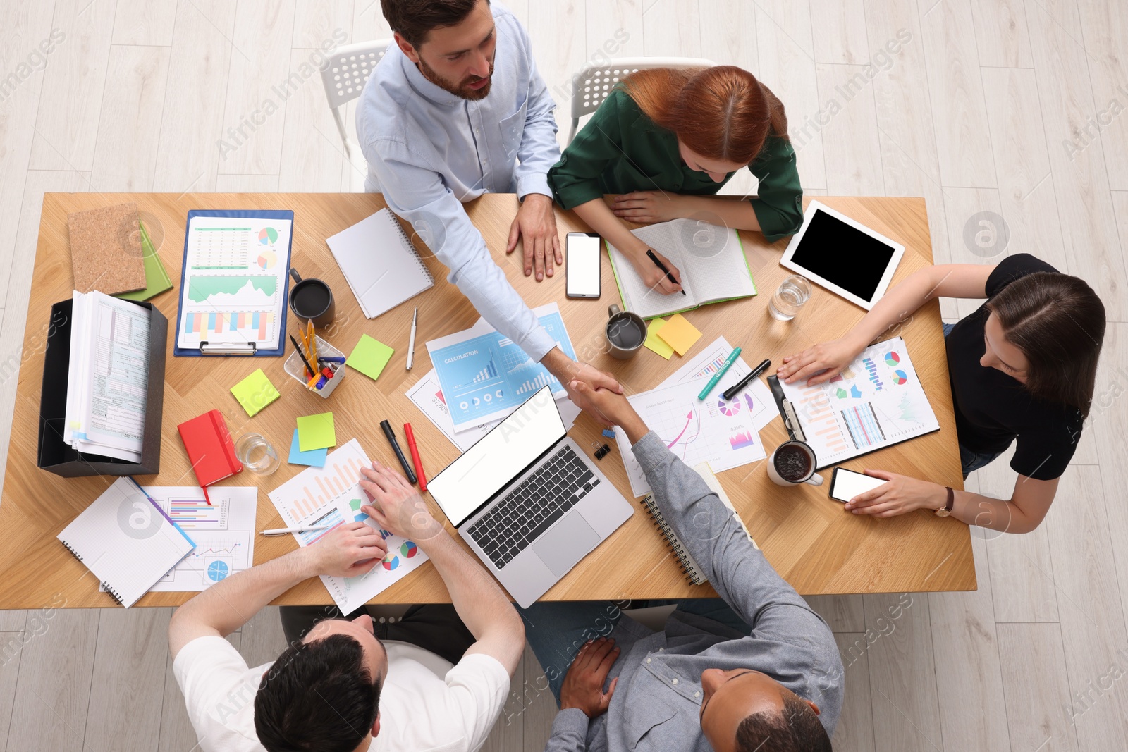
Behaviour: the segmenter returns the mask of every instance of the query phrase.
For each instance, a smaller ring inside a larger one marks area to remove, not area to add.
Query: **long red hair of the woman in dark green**
[[[620,86],[650,120],[707,159],[748,165],[769,134],[787,138],[783,103],[735,65],[654,68]]]

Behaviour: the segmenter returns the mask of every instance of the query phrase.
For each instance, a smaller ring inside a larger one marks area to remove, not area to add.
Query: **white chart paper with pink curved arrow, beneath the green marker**
[[[712,395],[699,400],[699,391],[700,381],[690,380],[627,399],[662,443],[689,467],[708,462],[714,471],[721,471],[765,459],[767,454],[757,434],[755,413],[747,408],[722,409],[726,405],[724,400],[719,401]],[[631,451],[626,433],[616,431],[615,441],[626,466],[631,490],[642,496],[650,490],[650,484]]]

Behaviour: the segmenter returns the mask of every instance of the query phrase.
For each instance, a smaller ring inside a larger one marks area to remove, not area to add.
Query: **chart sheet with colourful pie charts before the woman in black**
[[[779,383],[820,470],[940,430],[900,337],[866,347],[825,383]]]

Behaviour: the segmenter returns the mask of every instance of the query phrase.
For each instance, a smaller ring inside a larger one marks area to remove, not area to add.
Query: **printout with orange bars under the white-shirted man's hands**
[[[351,522],[363,522],[380,532],[388,547],[384,561],[367,574],[355,577],[321,577],[333,601],[344,613],[350,613],[376,598],[428,559],[423,551],[417,550],[414,541],[380,530],[371,517],[360,511],[362,505],[371,503],[371,498],[360,487],[362,467],[371,467],[371,462],[360,442],[353,439],[329,452],[325,467],[307,468],[268,494],[271,503],[282,516],[283,524],[280,527],[328,525],[325,530],[293,533],[299,546],[312,546],[335,528]],[[413,551],[411,557],[403,554],[407,549]]]

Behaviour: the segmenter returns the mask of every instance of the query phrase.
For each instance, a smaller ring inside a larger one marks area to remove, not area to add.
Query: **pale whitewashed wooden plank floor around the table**
[[[937,262],[1030,251],[1100,291],[1110,326],[1098,400],[1045,524],[977,533],[979,590],[915,594],[899,619],[887,611],[896,594],[812,604],[847,665],[839,750],[1128,749],[1128,494],[1116,469],[1128,467],[1128,5],[509,5],[558,103],[608,51],[742,65],[785,103],[809,194],[924,195]],[[349,189],[320,81],[280,85],[335,29],[350,42],[389,34],[376,0],[5,0],[0,29],[5,457],[16,370],[42,356],[20,352],[42,194]],[[35,51],[52,29],[64,38],[44,67]],[[256,121],[259,108],[277,112]],[[566,108],[557,121],[566,133]],[[1003,218],[1005,249],[980,212]],[[945,301],[945,318],[973,306]],[[1006,496],[1013,481],[1001,460],[968,487]],[[0,750],[191,750],[169,610],[51,605],[0,612]],[[273,657],[276,613],[231,640],[253,665]],[[487,749],[541,746],[553,702],[537,671],[527,654]]]

